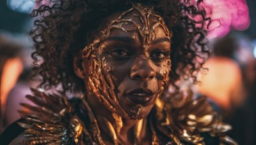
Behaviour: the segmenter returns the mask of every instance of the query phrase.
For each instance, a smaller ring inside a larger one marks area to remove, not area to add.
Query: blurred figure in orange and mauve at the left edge
[[[29,59],[28,59],[29,58]],[[24,110],[21,102],[29,103],[25,95],[31,94],[31,57],[24,44],[0,35],[0,123],[1,131],[20,118],[18,110]]]

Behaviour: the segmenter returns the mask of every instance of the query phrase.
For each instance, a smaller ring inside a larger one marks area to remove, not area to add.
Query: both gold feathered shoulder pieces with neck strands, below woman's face
[[[109,132],[113,143],[117,144],[118,125],[114,128],[106,118],[97,119],[86,99],[69,102],[61,93],[46,94],[38,90],[33,92],[35,96],[28,95],[27,98],[38,106],[22,104],[29,111],[20,111],[26,121],[19,124],[28,132],[24,135],[26,140],[22,142],[104,144],[99,130],[99,122],[104,121],[106,123],[104,129]],[[136,125],[135,138],[138,139],[140,136],[143,121],[148,121],[152,132],[152,144],[205,144],[202,133],[218,137],[220,144],[236,144],[227,136],[228,130],[231,129],[230,125],[221,123],[206,97],[193,100],[190,96],[181,106],[175,108],[172,108],[170,103],[158,99],[147,118]]]

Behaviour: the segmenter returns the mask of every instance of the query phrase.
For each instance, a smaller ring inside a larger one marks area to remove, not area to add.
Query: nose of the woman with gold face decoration
[[[134,60],[133,66],[131,67],[131,79],[145,79],[150,80],[156,77],[156,71],[152,68],[150,60],[145,58],[138,58]]]

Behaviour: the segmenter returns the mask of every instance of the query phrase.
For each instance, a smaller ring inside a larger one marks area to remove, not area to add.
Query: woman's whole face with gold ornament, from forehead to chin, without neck
[[[90,71],[89,89],[111,111],[145,118],[168,82],[170,45],[161,17],[134,6],[113,19],[99,39],[95,59],[88,63],[89,69],[95,69]]]

